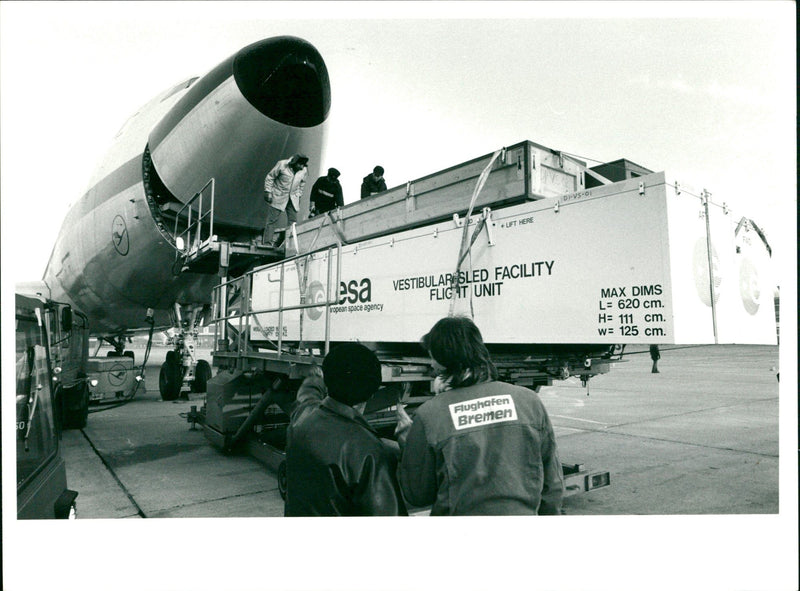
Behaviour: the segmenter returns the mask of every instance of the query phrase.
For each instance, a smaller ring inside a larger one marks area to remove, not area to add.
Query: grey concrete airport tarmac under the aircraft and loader
[[[282,516],[275,474],[185,418],[204,394],[161,400],[165,354],[153,348],[146,391],[91,406],[86,428],[64,433],[79,519]],[[777,513],[777,365],[776,346],[664,346],[658,374],[639,349],[588,391],[575,378],[542,388],[562,462],[610,473],[610,486],[565,499],[566,513]]]

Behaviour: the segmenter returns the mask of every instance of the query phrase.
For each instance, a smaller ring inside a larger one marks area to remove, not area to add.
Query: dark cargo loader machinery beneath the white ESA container
[[[322,356],[294,352],[280,357],[255,351],[244,357],[231,353],[215,357],[221,365],[225,363],[222,359],[235,362],[209,382],[205,407],[190,414],[189,422],[202,423],[206,438],[215,447],[225,452],[243,451],[272,470],[285,500],[289,415],[302,379],[321,365]],[[380,350],[378,357],[383,383],[367,403],[364,416],[387,444],[393,445],[396,406],[402,404],[413,417],[416,408],[432,396],[433,370],[427,358],[395,359]],[[513,370],[506,364],[499,370],[504,381],[525,384],[545,379],[535,378],[535,372],[522,364]],[[565,463],[562,468],[566,495],[610,484],[607,471],[589,472],[582,464]]]

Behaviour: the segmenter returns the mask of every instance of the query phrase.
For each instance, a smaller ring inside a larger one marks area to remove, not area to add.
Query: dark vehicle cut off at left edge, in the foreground
[[[16,295],[18,519],[76,517],[78,493],[67,488],[59,449],[62,427],[46,315],[44,300]],[[64,313],[63,320],[61,328],[68,332],[71,314]]]

